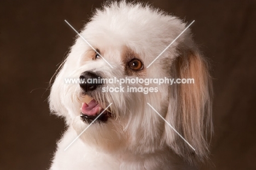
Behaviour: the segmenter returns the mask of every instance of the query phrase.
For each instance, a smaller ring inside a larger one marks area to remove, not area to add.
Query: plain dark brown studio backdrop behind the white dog
[[[79,30],[102,1],[0,2],[0,169],[46,169],[61,119],[49,114],[48,83]],[[212,61],[212,163],[201,169],[256,169],[256,4],[149,1],[191,26]]]

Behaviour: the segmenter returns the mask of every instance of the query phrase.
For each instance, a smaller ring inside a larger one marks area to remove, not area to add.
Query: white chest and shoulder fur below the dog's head
[[[64,149],[77,137],[77,133],[69,128],[58,143],[55,159],[50,170],[115,170],[115,169],[195,169],[185,165],[173,155],[149,154],[147,156],[126,153],[106,154],[97,151],[97,148],[85,145],[81,140],[76,140],[66,151]],[[166,152],[165,152],[166,153]],[[158,161],[155,161],[158,160]],[[182,166],[181,166],[182,165]]]

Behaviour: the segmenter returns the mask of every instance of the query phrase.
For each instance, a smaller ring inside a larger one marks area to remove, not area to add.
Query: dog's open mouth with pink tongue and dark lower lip
[[[105,123],[107,122],[109,117],[112,117],[112,113],[104,110],[101,105],[97,103],[97,101],[95,101],[95,99],[88,96],[86,97],[87,101],[82,104],[82,107],[80,109],[80,118],[83,122],[85,122],[86,124],[90,124],[92,121],[95,120],[94,122]]]

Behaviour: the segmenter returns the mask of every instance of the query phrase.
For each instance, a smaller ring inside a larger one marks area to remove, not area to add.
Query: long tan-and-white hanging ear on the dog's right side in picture
[[[208,140],[213,129],[212,82],[207,62],[197,50],[187,50],[173,62],[171,72],[174,79],[194,79],[194,84],[187,81],[187,84],[169,87],[166,120],[195,150],[168,125],[165,125],[162,142],[189,162],[203,161],[208,155]]]

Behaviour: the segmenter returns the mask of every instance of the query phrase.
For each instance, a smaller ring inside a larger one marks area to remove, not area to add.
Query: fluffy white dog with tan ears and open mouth
[[[80,33],[92,48],[78,36],[51,88],[50,109],[65,118],[67,130],[50,169],[193,169],[207,159],[212,92],[206,61],[189,29],[161,54],[185,27],[140,3],[111,2],[96,10]],[[125,82],[123,91],[109,92],[120,85],[67,84],[67,78],[193,78],[194,84]]]

